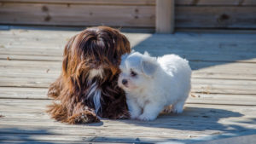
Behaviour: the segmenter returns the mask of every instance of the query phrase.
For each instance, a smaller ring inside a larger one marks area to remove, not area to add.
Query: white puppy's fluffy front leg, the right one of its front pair
[[[151,121],[157,118],[158,114],[162,111],[164,107],[156,103],[148,103],[144,109],[143,114],[138,117],[139,120]]]

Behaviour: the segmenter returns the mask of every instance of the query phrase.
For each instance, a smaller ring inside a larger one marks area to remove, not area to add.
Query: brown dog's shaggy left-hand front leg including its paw
[[[95,111],[81,103],[74,107],[73,115],[67,118],[67,123],[69,124],[88,124],[96,123],[99,121],[100,119],[97,118]]]

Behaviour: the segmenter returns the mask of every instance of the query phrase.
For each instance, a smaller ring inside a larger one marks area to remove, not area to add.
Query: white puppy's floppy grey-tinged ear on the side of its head
[[[143,73],[148,77],[152,77],[158,66],[153,60],[142,60]]]

